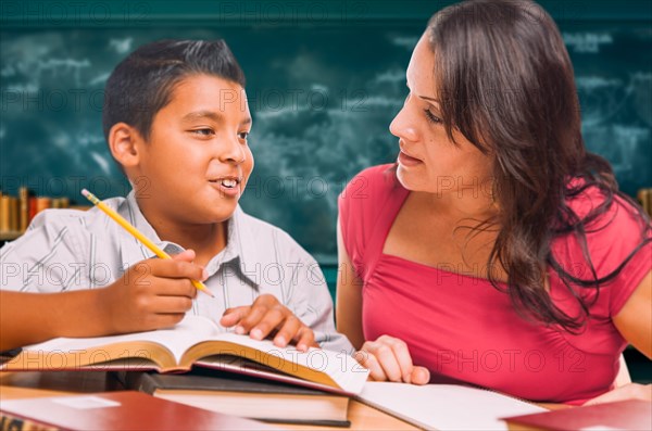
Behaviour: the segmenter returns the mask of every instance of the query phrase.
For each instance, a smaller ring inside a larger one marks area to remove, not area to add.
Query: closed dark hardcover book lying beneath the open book
[[[129,371],[124,384],[150,395],[209,410],[271,422],[349,427],[349,396],[233,372],[184,375]]]

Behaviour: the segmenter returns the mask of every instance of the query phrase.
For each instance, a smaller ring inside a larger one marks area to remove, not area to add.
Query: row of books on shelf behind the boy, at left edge
[[[41,211],[68,206],[67,198],[36,197],[26,187],[18,189],[17,197],[0,191],[0,234],[2,239],[15,239]]]

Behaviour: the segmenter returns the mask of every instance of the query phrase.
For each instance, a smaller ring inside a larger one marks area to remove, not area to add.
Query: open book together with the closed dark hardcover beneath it
[[[114,371],[128,389],[216,413],[339,427],[368,376],[346,352],[281,348],[200,316],[171,329],[54,339],[0,363],[0,371],[68,369]]]

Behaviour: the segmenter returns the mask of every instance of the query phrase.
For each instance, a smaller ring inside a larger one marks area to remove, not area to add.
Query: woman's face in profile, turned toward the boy
[[[454,130],[448,139],[435,88],[435,54],[427,35],[416,45],[408,66],[410,93],[389,130],[399,138],[397,175],[403,187],[457,198],[491,192],[491,159]],[[454,194],[453,194],[454,195]]]

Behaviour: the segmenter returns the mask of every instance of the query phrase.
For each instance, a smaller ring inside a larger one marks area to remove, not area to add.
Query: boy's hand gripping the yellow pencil
[[[109,332],[150,331],[178,324],[197,296],[190,279],[206,278],[193,259],[195,252],[186,250],[172,259],[142,261],[98,291],[98,307]]]

